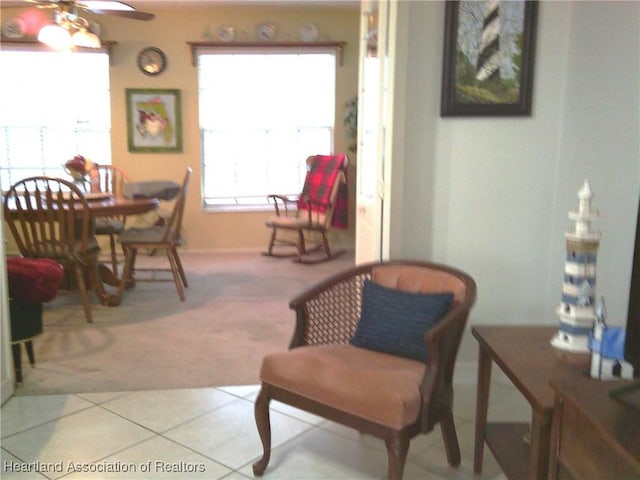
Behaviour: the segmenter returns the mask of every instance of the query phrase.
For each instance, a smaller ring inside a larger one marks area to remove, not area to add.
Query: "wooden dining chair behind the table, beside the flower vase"
[[[123,169],[115,165],[95,165],[96,181],[91,181],[92,193],[109,193],[118,198],[124,195],[124,184],[129,183],[129,177]],[[98,217],[95,219],[95,234],[109,237],[109,254],[111,270],[118,277],[118,250],[116,237],[124,231],[125,215]]]

